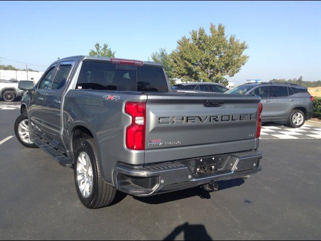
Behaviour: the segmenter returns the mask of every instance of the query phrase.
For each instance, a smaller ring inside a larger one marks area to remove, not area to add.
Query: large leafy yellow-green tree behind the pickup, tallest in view
[[[182,37],[171,54],[173,75],[182,81],[217,82],[228,84],[226,75],[232,77],[248,60],[243,52],[248,48],[234,35],[225,36],[225,27],[219,24],[210,27],[207,35],[204,28],[190,32],[190,38]]]

